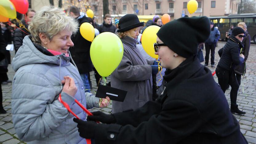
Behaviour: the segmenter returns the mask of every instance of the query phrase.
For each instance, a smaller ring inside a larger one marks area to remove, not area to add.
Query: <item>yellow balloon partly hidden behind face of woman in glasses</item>
[[[156,43],[156,33],[158,32],[159,29],[159,26],[149,26],[144,30],[141,37],[143,49],[152,58],[158,58],[158,55],[155,55],[154,43]]]

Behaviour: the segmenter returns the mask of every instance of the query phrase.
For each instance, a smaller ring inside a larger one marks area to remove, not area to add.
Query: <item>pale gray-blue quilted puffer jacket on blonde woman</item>
[[[98,98],[84,93],[78,70],[69,61],[70,57],[64,54],[43,54],[29,36],[24,38],[12,62],[16,71],[12,86],[12,117],[20,140],[27,143],[86,143],[79,136],[74,116],[58,101],[58,97],[61,93],[62,100],[82,120],[86,120],[86,113],[74,98],[84,106],[88,99],[88,109],[98,105]],[[61,92],[60,78],[64,76],[74,78],[78,88],[74,98]]]

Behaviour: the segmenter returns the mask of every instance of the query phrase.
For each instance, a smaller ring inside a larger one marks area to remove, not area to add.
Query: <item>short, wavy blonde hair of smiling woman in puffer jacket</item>
[[[78,30],[78,22],[74,18],[66,16],[65,12],[59,8],[45,6],[35,14],[28,29],[32,34],[32,41],[41,43],[40,33],[46,34],[50,40],[62,30],[68,30],[75,34]]]

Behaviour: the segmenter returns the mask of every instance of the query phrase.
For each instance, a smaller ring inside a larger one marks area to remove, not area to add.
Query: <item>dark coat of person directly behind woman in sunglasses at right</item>
[[[242,43],[244,44],[244,48],[242,49],[242,54],[244,55],[244,62],[241,65],[235,67],[235,73],[243,75],[246,73],[246,60],[249,55],[250,44],[251,44],[251,37],[248,34],[248,31],[245,32],[245,38],[243,39]]]

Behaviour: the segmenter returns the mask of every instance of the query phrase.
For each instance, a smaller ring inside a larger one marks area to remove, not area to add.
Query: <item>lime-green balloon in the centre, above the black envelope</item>
[[[102,77],[109,76],[120,64],[124,48],[121,39],[111,32],[104,32],[94,38],[90,57],[95,69]]]

